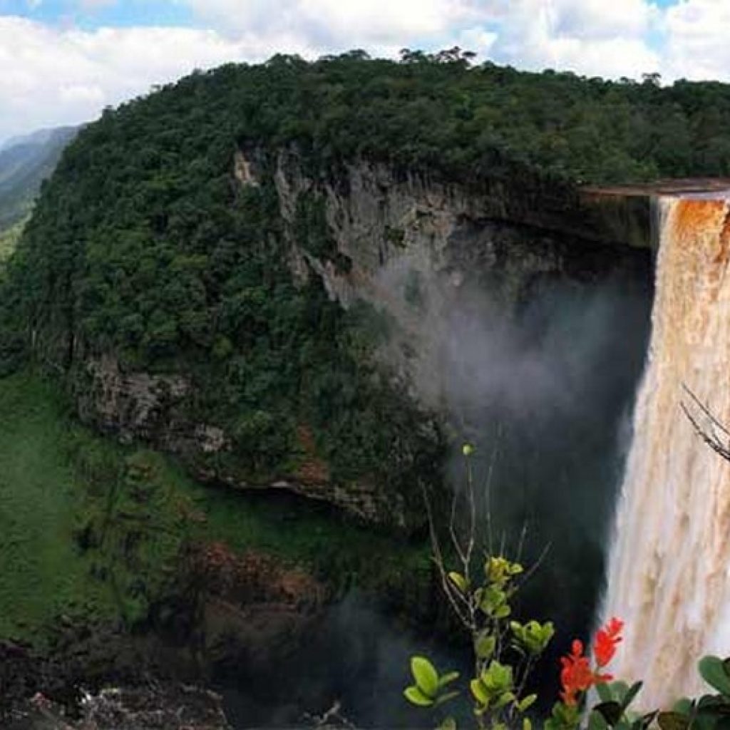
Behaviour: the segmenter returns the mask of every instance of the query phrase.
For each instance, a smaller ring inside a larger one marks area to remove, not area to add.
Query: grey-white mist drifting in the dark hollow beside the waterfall
[[[491,269],[404,256],[380,277],[396,322],[383,357],[445,414],[455,493],[475,445],[492,548],[527,566],[545,553],[518,609],[555,621],[558,648],[591,627],[648,342],[650,257],[605,253],[567,273],[539,250]]]

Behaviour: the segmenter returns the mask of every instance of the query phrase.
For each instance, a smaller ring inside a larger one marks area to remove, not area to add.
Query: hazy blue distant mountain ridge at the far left
[[[0,147],[0,233],[28,215],[42,180],[53,172],[79,129],[41,129],[9,139]]]

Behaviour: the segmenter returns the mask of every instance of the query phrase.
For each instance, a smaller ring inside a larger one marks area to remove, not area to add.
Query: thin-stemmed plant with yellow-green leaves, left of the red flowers
[[[466,690],[480,730],[514,726],[531,730],[526,712],[537,701],[537,695],[526,692],[526,682],[555,629],[550,621],[541,623],[532,619],[520,623],[512,619],[512,598],[525,577],[525,570],[518,561],[491,553],[491,535],[477,548],[477,499],[470,461],[473,453],[472,445],[462,447],[466,488],[461,506],[466,515],[466,529],[457,529],[456,497],[449,524],[450,551],[458,561],[458,570],[447,569],[428,495],[426,506],[434,562],[443,591],[472,639],[474,674],[468,685],[460,688],[456,684],[458,672],[440,675],[427,658],[417,656],[411,661],[413,683],[404,695],[412,704],[434,709],[442,708]],[[439,712],[442,714],[439,728],[456,728],[452,715]]]

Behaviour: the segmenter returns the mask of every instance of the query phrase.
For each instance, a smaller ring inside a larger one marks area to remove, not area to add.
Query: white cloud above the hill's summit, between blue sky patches
[[[304,47],[364,47],[392,55],[458,44],[524,68],[640,77],[661,59],[648,33],[650,0],[183,0],[232,37],[285,29]]]

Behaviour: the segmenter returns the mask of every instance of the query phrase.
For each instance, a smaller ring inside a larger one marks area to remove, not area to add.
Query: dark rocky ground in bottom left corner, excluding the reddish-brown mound
[[[164,677],[149,649],[101,629],[66,630],[44,655],[0,644],[0,727],[228,730],[220,696]]]

